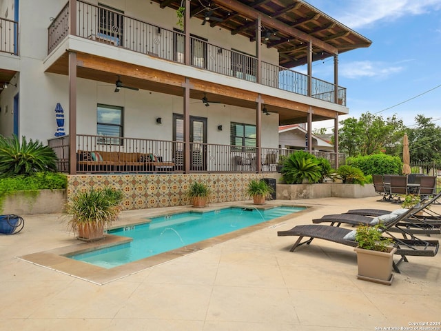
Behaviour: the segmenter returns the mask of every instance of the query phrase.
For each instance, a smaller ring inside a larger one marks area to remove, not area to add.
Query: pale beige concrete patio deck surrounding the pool
[[[61,214],[21,215],[22,232],[0,236],[0,330],[441,330],[441,254],[409,257],[387,286],[357,279],[353,248],[316,239],[289,252],[296,237],[277,237],[323,214],[398,208],[376,200],[270,201],[314,208],[104,285],[19,259],[85,245]]]

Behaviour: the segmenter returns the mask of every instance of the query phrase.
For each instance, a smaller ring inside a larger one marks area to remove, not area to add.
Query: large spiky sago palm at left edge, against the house
[[[41,171],[57,171],[57,155],[39,140],[21,142],[14,134],[11,138],[0,136],[0,177],[18,174],[31,175]]]

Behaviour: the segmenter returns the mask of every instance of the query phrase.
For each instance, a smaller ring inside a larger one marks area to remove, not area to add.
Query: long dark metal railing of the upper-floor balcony
[[[51,23],[48,54],[72,34],[69,30],[72,17],[76,18],[73,33],[76,37],[346,106],[346,89],[334,83],[84,1],[74,1],[74,6],[67,3]],[[189,38],[189,57],[185,54],[186,38]]]

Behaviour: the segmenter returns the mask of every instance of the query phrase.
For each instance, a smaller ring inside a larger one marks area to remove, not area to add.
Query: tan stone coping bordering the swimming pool
[[[74,259],[70,259],[69,256],[74,254],[80,254],[83,252],[90,252],[92,250],[99,250],[101,248],[108,248],[114,245],[119,245],[122,243],[128,243],[132,241],[132,238],[122,237],[114,234],[105,234],[104,239],[100,241],[92,241],[92,242],[81,242],[76,243],[74,245],[68,245],[61,248],[54,248],[52,250],[45,250],[42,252],[36,252],[32,254],[26,254],[21,257],[17,257],[17,259],[21,259],[23,261],[30,262],[34,265],[39,265],[43,268],[48,268],[50,270],[54,270],[57,272],[61,272],[63,274],[68,274],[71,277],[76,277],[78,279],[83,279],[84,281],[89,281],[90,283],[94,283],[96,285],[105,285],[112,281],[116,281],[117,279],[121,279],[124,277],[128,277],[132,274],[136,274],[147,268],[151,268],[154,265],[162,264],[167,261],[171,261],[173,259],[177,259],[178,257],[183,257],[187,254],[192,254],[194,252],[198,252],[199,250],[203,250],[205,248],[212,247],[217,245],[218,243],[223,243],[230,239],[234,239],[240,237],[244,234],[254,232],[257,230],[261,230],[263,228],[275,228],[276,225],[287,221],[288,219],[292,219],[294,217],[298,217],[299,215],[305,214],[306,212],[310,212],[314,210],[314,206],[309,205],[299,205],[289,204],[289,203],[271,203],[267,205],[254,205],[253,203],[232,203],[231,205],[209,205],[205,208],[176,208],[173,212],[167,210],[167,212],[163,213],[155,213],[153,217],[165,216],[168,214],[175,214],[176,212],[209,212],[212,210],[220,210],[225,208],[257,208],[257,209],[270,209],[275,207],[305,207],[305,210],[300,210],[299,212],[292,214],[287,214],[283,217],[278,217],[276,219],[272,219],[271,221],[265,221],[262,223],[258,223],[256,225],[251,225],[247,228],[239,229],[234,232],[229,232],[227,234],[221,234],[218,237],[205,239],[203,241],[199,241],[198,243],[185,245],[183,248],[177,248],[176,250],[171,250],[169,252],[164,252],[161,254],[154,255],[152,257],[146,257],[145,259],[140,259],[138,261],[126,263],[124,265],[119,265],[114,268],[103,268],[97,265],[92,265],[90,263],[85,263],[83,261],[76,261]],[[146,210],[146,214],[148,214],[148,210]],[[128,220],[124,223],[114,225],[110,228],[121,228],[122,226],[130,226],[141,223],[146,223],[146,219],[137,219],[137,220]]]

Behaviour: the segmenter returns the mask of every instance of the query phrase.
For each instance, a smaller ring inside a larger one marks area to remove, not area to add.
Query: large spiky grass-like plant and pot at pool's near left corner
[[[68,227],[78,234],[78,239],[94,241],[104,238],[104,229],[115,221],[121,212],[123,192],[105,188],[74,195],[65,205],[71,215]]]

